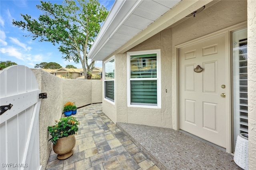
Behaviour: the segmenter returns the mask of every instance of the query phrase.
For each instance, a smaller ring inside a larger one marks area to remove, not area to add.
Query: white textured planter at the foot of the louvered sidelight
[[[248,134],[241,133],[236,139],[234,162],[244,170],[248,170]]]

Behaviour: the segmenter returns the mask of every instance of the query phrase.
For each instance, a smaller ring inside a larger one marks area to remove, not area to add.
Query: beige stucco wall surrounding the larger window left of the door
[[[135,123],[142,125],[150,125],[157,127],[172,128],[171,115],[171,79],[172,70],[172,29],[166,29],[152,38],[137,45],[129,51],[142,51],[150,49],[161,49],[161,109],[149,109],[145,107],[127,107],[127,55],[118,54],[115,57],[116,63],[116,120],[118,122]],[[166,93],[167,90],[167,93]],[[103,102],[104,103],[104,102]],[[169,105],[168,105],[169,103]],[[114,110],[111,105],[103,104],[103,112],[108,112],[106,115],[111,115]],[[110,107],[110,108],[108,108]],[[111,113],[110,113],[111,112]],[[110,117],[110,116],[108,116]],[[111,119],[110,117],[110,119]],[[154,120],[154,121],[152,121]],[[113,121],[113,120],[112,120]],[[115,121],[114,121],[115,122]]]

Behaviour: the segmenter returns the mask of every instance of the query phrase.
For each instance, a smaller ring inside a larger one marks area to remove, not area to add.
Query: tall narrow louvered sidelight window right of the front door
[[[234,146],[240,133],[248,133],[247,28],[232,33]],[[233,146],[233,147],[234,147]]]

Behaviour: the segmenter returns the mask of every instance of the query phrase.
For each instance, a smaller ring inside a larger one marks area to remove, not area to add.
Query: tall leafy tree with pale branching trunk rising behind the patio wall
[[[98,0],[64,0],[62,5],[41,1],[36,7],[43,12],[38,20],[21,14],[24,21],[13,20],[12,24],[30,32],[32,40],[40,38],[40,42],[60,44],[62,58],[80,61],[87,79],[87,71],[92,72],[95,63],[88,64],[88,49],[108,15],[107,9]]]

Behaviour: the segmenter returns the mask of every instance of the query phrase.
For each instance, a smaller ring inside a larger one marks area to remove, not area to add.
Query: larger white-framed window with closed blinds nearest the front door
[[[128,52],[128,106],[160,107],[160,50]]]

